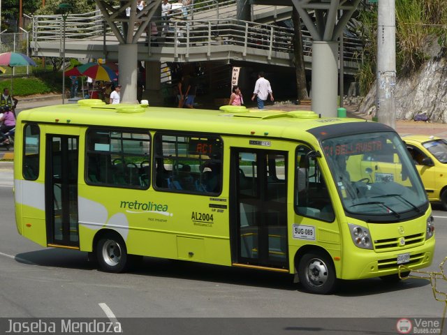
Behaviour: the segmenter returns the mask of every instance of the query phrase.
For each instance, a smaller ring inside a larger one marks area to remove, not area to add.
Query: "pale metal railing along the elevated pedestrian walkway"
[[[207,1],[217,2],[217,1]],[[219,3],[235,3],[228,0]],[[206,8],[204,6],[203,8]],[[220,7],[219,7],[220,8]],[[198,17],[200,8],[196,9]],[[206,12],[207,10],[203,10]],[[161,17],[159,17],[161,19]],[[99,11],[85,14],[71,14],[66,19],[66,42],[73,40],[116,40],[109,27],[103,24],[103,15]],[[186,57],[193,47],[206,46],[207,56],[211,56],[213,45],[239,45],[243,48],[243,55],[247,55],[248,48],[268,50],[268,59],[274,52],[293,52],[293,29],[278,27],[272,24],[260,24],[235,20],[233,18],[185,20],[184,17],[171,16],[168,20],[152,20],[156,24],[158,34],[156,41],[151,39],[151,48],[158,46],[170,46],[175,49],[175,56],[179,48],[186,48]],[[38,15],[33,17],[32,41],[34,50],[38,51],[38,43],[41,41],[59,41],[63,20],[60,15]],[[150,29],[150,28],[149,28]],[[149,33],[148,33],[149,34]],[[141,43],[147,43],[148,36],[140,38]],[[302,29],[302,44],[305,56],[312,57],[312,37],[309,31]],[[184,49],[182,49],[184,50]],[[358,54],[362,50],[362,43],[356,38],[344,36],[344,60],[357,61]]]

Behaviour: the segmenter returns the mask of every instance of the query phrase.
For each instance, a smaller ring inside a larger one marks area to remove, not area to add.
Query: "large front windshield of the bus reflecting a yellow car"
[[[420,215],[427,206],[418,172],[397,133],[344,135],[321,143],[349,216],[398,221],[403,214]]]

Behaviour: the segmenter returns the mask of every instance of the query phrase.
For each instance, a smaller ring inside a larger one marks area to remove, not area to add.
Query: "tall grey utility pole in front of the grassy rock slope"
[[[379,0],[377,15],[377,121],[396,128],[394,90],[396,85],[395,0]]]

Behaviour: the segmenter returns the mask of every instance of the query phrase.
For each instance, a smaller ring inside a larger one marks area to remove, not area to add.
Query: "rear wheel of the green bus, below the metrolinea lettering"
[[[96,244],[96,258],[102,271],[118,274],[128,265],[126,244],[121,237],[107,234]]]

